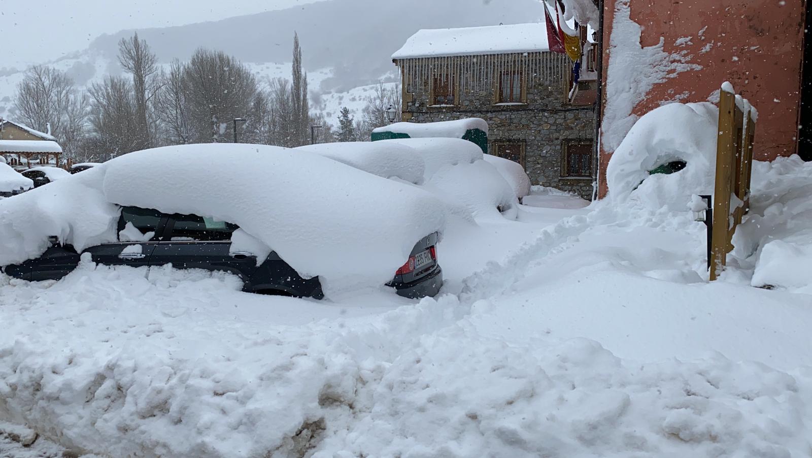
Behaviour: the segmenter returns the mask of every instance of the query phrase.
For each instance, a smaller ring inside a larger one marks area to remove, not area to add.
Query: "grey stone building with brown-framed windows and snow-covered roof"
[[[421,30],[392,55],[404,121],[482,118],[488,152],[519,162],[533,184],[590,199],[597,173],[595,55],[585,31],[580,82],[547,45],[545,24]]]

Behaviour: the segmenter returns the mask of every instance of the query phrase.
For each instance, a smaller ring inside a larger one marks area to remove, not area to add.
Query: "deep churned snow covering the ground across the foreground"
[[[0,277],[0,421],[103,456],[810,456],[808,275],[750,286],[758,247],[809,246],[810,179],[756,165],[715,283],[687,206],[539,187],[516,221],[452,221],[443,293],[417,303],[87,263]]]

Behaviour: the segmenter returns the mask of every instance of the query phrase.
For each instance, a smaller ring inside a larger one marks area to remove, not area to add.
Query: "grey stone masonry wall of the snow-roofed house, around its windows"
[[[555,58],[560,54],[556,54]],[[566,56],[561,56],[566,59]],[[564,61],[565,63],[566,61]],[[430,123],[461,118],[482,118],[488,123],[489,153],[495,153],[499,141],[525,143],[525,171],[533,184],[574,192],[590,200],[593,178],[568,178],[562,173],[562,149],[565,140],[592,142],[594,107],[566,103],[568,67],[559,66],[557,77],[548,80],[524,76],[526,103],[495,104],[498,83],[484,80],[476,89],[456,89],[456,106],[430,106],[430,80],[417,74],[404,78],[404,121]],[[473,84],[464,84],[473,86]],[[593,158],[593,175],[596,165]]]

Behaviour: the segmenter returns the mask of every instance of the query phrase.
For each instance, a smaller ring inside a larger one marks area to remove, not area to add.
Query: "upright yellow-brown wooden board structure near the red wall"
[[[719,132],[713,198],[710,279],[719,278],[733,249],[736,226],[749,210],[750,174],[756,110],[733,93],[730,83],[719,91]]]

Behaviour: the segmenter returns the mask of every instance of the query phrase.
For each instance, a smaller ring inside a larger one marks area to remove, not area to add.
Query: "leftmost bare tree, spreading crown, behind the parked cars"
[[[76,92],[63,71],[37,65],[17,84],[16,108],[28,126],[55,136],[68,158],[76,154],[87,128],[88,97]]]

